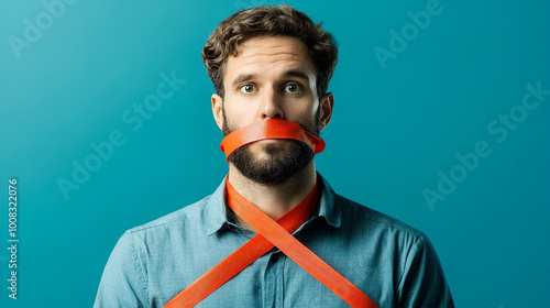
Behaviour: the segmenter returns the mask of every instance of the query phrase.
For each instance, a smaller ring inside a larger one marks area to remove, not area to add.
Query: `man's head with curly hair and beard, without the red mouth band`
[[[328,82],[337,63],[332,36],[289,7],[238,12],[220,23],[202,51],[215,84],[212,112],[230,132],[265,119],[299,123],[319,135],[332,114]],[[314,157],[293,140],[265,140],[235,150],[228,161],[263,184],[283,183]]]

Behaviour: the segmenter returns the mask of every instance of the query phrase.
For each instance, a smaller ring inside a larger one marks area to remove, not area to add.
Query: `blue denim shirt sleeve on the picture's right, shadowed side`
[[[396,296],[400,308],[454,308],[443,268],[427,237],[411,248]]]

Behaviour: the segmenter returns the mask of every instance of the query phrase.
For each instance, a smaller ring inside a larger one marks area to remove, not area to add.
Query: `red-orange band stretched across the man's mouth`
[[[228,134],[220,145],[221,152],[226,152],[226,161],[237,148],[261,140],[267,139],[292,139],[306,143],[314,154],[324,150],[324,141],[308,131],[300,124],[279,119],[267,119],[244,127]]]

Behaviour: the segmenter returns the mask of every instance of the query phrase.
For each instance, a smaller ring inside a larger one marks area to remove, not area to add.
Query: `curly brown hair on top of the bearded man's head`
[[[220,22],[202,48],[202,61],[216,92],[223,98],[224,64],[238,56],[239,46],[257,36],[294,36],[302,41],[317,68],[319,99],[327,92],[338,62],[337,42],[305,13],[289,6],[257,7],[239,11]]]

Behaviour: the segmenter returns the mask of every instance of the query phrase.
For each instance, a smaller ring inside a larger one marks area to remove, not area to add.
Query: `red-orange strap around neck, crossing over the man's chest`
[[[164,308],[194,307],[274,246],[277,246],[351,307],[378,308],[363,292],[290,234],[306,222],[317,208],[319,204],[318,184],[306,199],[277,221],[271,219],[241,196],[231,186],[229,179],[227,179],[226,185],[229,207],[260,234],[176,295]]]

